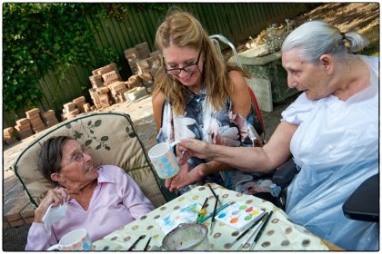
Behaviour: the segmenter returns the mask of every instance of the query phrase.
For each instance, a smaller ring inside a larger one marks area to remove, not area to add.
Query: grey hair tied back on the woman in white
[[[368,43],[361,34],[356,32],[342,34],[336,26],[317,20],[301,24],[288,34],[281,52],[299,48],[301,49],[299,57],[309,63],[316,63],[323,54],[345,58],[349,51],[358,52]]]

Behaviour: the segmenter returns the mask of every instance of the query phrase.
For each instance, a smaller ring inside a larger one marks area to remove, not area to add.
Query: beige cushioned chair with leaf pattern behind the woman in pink
[[[139,140],[130,116],[119,112],[96,112],[61,122],[35,138],[15,160],[15,175],[23,184],[31,203],[38,206],[54,186],[38,171],[42,144],[52,136],[66,135],[89,148],[95,166],[117,165],[139,185],[155,207],[166,203],[145,147]]]

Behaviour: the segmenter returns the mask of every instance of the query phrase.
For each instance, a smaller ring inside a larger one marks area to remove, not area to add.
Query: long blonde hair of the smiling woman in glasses
[[[193,15],[175,10],[159,25],[156,31],[157,50],[163,54],[163,50],[170,45],[202,51],[205,56],[202,79],[207,88],[206,98],[216,111],[223,108],[226,98],[232,93],[229,70],[206,31]],[[173,104],[176,114],[183,115],[186,110],[186,87],[168,76],[163,67],[156,77],[154,95],[158,92],[164,93],[166,101]]]

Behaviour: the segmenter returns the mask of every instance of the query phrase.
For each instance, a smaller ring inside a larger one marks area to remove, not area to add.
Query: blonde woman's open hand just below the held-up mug
[[[166,188],[170,191],[179,190],[204,178],[203,169],[206,164],[200,164],[191,171],[189,167],[188,163],[181,165],[179,173],[173,179],[166,180]]]

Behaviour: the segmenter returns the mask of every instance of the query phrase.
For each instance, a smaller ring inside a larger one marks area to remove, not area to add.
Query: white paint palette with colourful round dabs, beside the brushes
[[[236,202],[215,216],[215,220],[225,223],[235,230],[244,230],[261,217],[265,211],[245,203]]]

